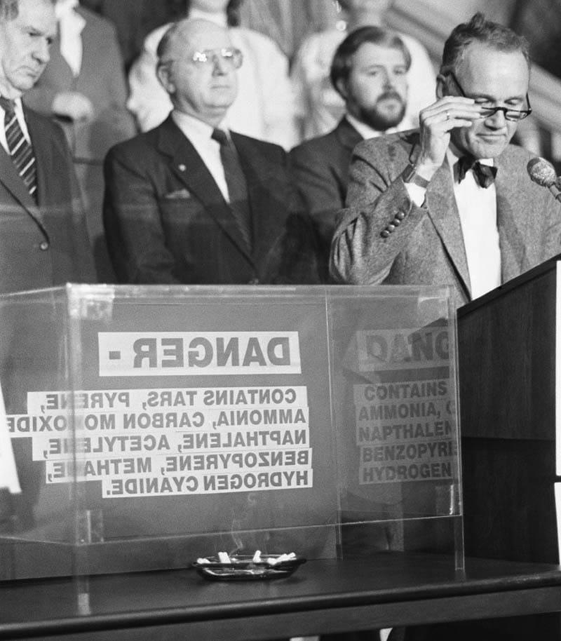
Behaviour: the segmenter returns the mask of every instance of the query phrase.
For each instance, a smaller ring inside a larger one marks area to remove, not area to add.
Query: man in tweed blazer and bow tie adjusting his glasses
[[[561,251],[561,205],[510,144],[527,43],[476,13],[450,34],[419,130],[366,140],[331,248],[336,281],[452,285],[460,306]]]

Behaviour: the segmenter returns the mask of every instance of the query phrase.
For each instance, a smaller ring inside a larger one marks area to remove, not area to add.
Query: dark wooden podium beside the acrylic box
[[[468,556],[559,562],[560,306],[556,257],[458,311]]]

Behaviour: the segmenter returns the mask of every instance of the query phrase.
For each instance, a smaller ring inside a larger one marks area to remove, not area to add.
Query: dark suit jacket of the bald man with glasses
[[[253,248],[201,156],[168,117],[107,155],[104,227],[121,283],[251,283],[267,279],[271,248],[294,208],[287,156],[232,133],[248,182]]]

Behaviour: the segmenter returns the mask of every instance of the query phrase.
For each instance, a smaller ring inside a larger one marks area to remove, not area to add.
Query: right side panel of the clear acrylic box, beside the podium
[[[459,552],[454,313],[447,290],[330,301],[343,551]],[[460,561],[459,561],[460,562]]]

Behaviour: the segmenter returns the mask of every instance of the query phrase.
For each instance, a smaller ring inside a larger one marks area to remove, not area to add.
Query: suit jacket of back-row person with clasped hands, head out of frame
[[[135,135],[135,121],[126,109],[128,91],[115,27],[87,9],[76,11],[86,20],[79,75],[72,74],[56,39],[48,65],[24,102],[41,114],[55,116],[53,100],[58,93],[76,91],[88,97],[93,105],[91,121],[60,124],[74,158],[102,163],[109,147]]]

